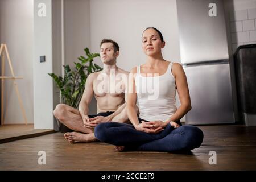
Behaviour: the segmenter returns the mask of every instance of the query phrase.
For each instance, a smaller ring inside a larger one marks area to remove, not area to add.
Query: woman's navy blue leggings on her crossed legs
[[[95,137],[101,142],[125,146],[131,150],[188,151],[200,147],[204,134],[196,126],[174,128],[170,123],[158,134],[138,131],[133,125],[118,122],[100,123],[95,127]]]

